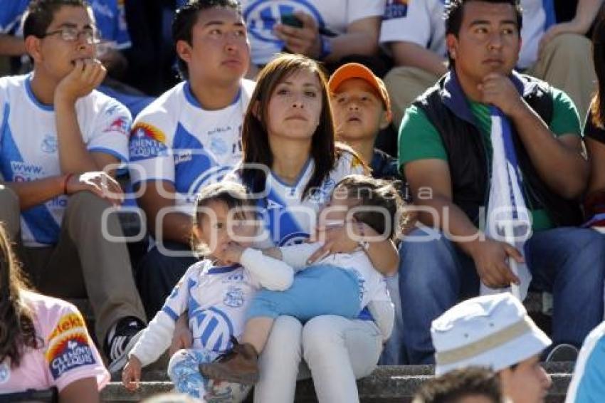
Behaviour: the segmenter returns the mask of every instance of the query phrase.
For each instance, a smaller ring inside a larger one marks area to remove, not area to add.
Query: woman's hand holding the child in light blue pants
[[[362,224],[365,225],[365,224]],[[344,223],[338,226],[318,226],[312,241],[320,242],[323,246],[315,251],[308,263],[325,258],[333,253],[351,253],[359,247],[359,234],[357,224]]]

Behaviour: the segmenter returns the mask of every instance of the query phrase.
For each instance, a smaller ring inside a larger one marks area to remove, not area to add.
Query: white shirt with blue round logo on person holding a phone
[[[320,28],[340,35],[350,23],[384,12],[384,0],[243,0],[241,4],[256,65],[268,63],[282,50],[283,41],[273,33],[273,26],[281,23],[282,16],[302,11]]]

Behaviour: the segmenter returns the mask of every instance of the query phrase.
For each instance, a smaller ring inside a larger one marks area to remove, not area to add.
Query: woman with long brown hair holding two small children
[[[362,248],[378,271],[394,273],[396,248],[389,240],[366,241],[377,235],[369,226],[354,226],[355,234],[338,225],[315,228],[337,182],[365,170],[352,150],[335,144],[334,133],[320,66],[305,56],[278,56],[258,75],[244,117],[240,179],[259,196],[273,244],[313,235],[324,246],[311,260]],[[297,377],[309,375],[320,402],[358,401],[355,379],[374,370],[382,350],[383,336],[369,319],[367,312],[355,320],[324,315],[303,325],[279,317],[260,357],[256,402],[293,402]],[[301,358],[306,365],[299,368]]]

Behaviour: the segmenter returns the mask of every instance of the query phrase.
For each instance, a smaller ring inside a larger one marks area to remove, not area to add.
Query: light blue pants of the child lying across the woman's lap
[[[259,316],[275,319],[280,315],[303,322],[320,315],[354,319],[360,310],[359,279],[343,268],[318,264],[296,273],[288,290],[258,291],[246,320]]]

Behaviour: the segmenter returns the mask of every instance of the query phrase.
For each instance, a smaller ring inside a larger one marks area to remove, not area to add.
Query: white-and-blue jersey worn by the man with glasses
[[[55,112],[31,90],[31,75],[0,78],[0,173],[7,182],[26,182],[61,174]],[[130,112],[93,90],[75,103],[78,125],[89,152],[127,162]],[[26,246],[56,244],[68,197],[61,195],[21,212]]]

